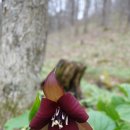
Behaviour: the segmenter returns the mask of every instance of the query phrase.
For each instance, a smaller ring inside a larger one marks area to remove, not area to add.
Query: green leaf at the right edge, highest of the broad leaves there
[[[128,97],[130,100],[130,84],[121,84],[120,90]]]

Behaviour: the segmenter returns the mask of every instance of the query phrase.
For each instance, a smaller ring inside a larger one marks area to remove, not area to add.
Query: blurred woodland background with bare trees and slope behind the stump
[[[59,58],[69,58],[86,63],[87,79],[103,74],[115,81],[129,80],[129,3],[129,0],[50,1],[45,66]]]

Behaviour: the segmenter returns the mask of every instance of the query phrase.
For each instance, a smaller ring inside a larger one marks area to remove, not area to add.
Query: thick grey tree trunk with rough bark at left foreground
[[[26,107],[35,98],[47,37],[47,0],[4,0],[0,102]],[[0,108],[1,109],[1,108]]]

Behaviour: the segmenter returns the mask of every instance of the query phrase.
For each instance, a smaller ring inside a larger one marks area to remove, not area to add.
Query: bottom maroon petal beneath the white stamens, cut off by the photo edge
[[[51,124],[49,124],[48,130],[59,130],[58,126],[51,127]],[[64,125],[64,127],[60,130],[79,130],[78,125],[76,122],[71,121],[68,125]]]

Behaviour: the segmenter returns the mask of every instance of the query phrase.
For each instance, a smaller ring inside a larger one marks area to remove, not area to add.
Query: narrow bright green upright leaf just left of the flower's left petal
[[[36,95],[36,99],[33,103],[33,106],[31,108],[31,111],[29,113],[29,121],[32,120],[32,118],[35,116],[35,114],[37,113],[38,111],[38,108],[40,106],[40,102],[41,102],[41,98],[43,96],[43,93],[41,91],[38,91],[37,92],[37,95]]]

